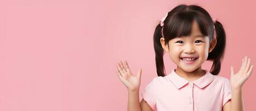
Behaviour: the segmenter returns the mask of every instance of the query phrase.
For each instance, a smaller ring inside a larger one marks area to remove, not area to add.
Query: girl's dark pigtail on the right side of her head
[[[212,67],[210,73],[213,75],[218,75],[221,69],[221,61],[224,57],[224,51],[226,46],[226,33],[222,24],[218,21],[214,23],[216,31],[217,43],[212,52],[208,54],[207,60],[212,60]]]

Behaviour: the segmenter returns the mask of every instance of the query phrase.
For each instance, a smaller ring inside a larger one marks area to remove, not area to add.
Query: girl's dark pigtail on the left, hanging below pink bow
[[[160,23],[159,23],[155,28],[153,41],[154,41],[154,50],[155,50],[155,63],[157,65],[157,74],[158,76],[164,77],[165,76],[165,68],[164,68],[164,60],[163,60],[164,49],[160,42],[160,38],[163,37],[161,32],[162,28],[163,27],[160,26]]]

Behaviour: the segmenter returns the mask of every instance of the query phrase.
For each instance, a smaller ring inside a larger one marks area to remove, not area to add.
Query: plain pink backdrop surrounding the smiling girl
[[[143,90],[157,77],[154,28],[180,3],[198,4],[224,25],[221,76],[230,77],[231,65],[238,71],[244,56],[255,64],[254,1],[0,1],[0,110],[127,110],[116,62],[143,69]],[[164,60],[170,73],[175,66]],[[255,77],[254,69],[243,87],[246,110],[255,109]]]

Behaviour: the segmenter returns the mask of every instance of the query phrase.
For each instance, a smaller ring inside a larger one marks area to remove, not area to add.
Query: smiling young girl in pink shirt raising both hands
[[[225,42],[222,24],[202,7],[182,4],[172,9],[155,28],[158,77],[146,85],[140,103],[141,69],[134,76],[126,61],[116,64],[118,78],[129,93],[128,110],[244,110],[242,86],[253,65],[244,57],[238,73],[231,67],[230,81],[220,77]],[[164,52],[177,65],[168,75],[164,69]],[[206,60],[213,62],[210,72],[201,68]]]

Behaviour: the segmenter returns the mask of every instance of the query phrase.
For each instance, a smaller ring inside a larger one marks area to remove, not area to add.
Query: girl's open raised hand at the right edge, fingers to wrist
[[[250,64],[250,58],[244,57],[242,65],[238,73],[235,74],[233,66],[231,66],[230,85],[232,88],[238,89],[243,86],[245,81],[252,74],[253,65]]]

